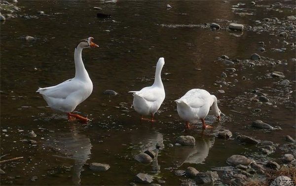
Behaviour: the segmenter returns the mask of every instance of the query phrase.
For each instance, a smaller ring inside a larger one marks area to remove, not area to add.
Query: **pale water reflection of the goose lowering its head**
[[[202,138],[195,141],[195,146],[178,146],[175,148],[176,165],[180,167],[183,163],[201,163],[209,155],[210,149],[215,143],[215,138]]]

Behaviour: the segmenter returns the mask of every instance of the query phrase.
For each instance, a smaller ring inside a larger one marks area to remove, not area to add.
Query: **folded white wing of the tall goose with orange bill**
[[[39,88],[36,92],[53,98],[66,98],[69,94],[80,90],[81,83],[74,79],[69,79],[56,86]]]

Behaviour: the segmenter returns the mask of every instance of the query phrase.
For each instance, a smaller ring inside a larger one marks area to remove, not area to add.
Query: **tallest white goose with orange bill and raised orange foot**
[[[93,37],[81,40],[74,51],[75,77],[53,87],[39,88],[36,92],[42,94],[48,106],[68,114],[68,121],[72,117],[87,122],[88,119],[72,114],[76,106],[84,101],[93,90],[93,84],[82,62],[83,48],[99,47],[93,42]]]

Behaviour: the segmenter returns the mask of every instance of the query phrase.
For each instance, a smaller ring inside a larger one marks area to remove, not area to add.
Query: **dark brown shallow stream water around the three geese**
[[[277,31],[225,29],[228,21],[254,27],[255,20],[266,17],[283,20],[293,15],[292,8],[283,7],[283,12],[265,8],[276,1],[260,1],[258,6],[243,1],[243,10],[233,7],[238,1],[216,0],[19,1],[23,9],[20,14],[37,15],[42,10],[49,16],[18,17],[1,25],[1,155],[24,156],[1,165],[6,172],[1,176],[2,185],[10,181],[13,185],[128,185],[139,172],[153,174],[166,185],[180,185],[183,178],[174,175],[176,169],[193,166],[207,171],[225,166],[230,155],[258,151],[237,140],[215,138],[213,134],[222,128],[279,144],[284,143],[284,135],[295,137],[296,63],[289,62],[295,58],[295,48],[289,45],[284,52],[273,52],[272,48],[283,47],[284,39]],[[166,10],[167,3],[173,8]],[[293,1],[283,4],[288,6]],[[100,12],[112,18],[97,18],[94,6],[103,8]],[[212,22],[219,23],[222,30],[212,31],[206,25]],[[37,40],[20,38],[26,35]],[[46,107],[36,90],[74,76],[74,47],[88,36],[100,46],[82,53],[94,90],[76,111],[92,121],[68,123],[66,116]],[[220,39],[215,39],[217,36]],[[295,42],[293,38],[286,40]],[[265,42],[266,52],[257,51],[259,41]],[[287,60],[287,64],[225,65],[218,61],[222,55],[245,60],[255,52],[275,62]],[[165,58],[162,79],[166,99],[155,116],[156,123],[141,123],[127,92],[152,84],[159,57]],[[237,76],[225,71],[229,67],[236,68]],[[223,71],[229,85],[219,87],[216,81],[221,80]],[[290,85],[281,85],[283,79],[267,78],[269,71],[283,72]],[[174,100],[192,88],[206,89],[220,100],[225,114],[222,121],[218,123],[211,113],[206,120],[215,126],[213,130],[202,132],[201,124],[184,130]],[[107,89],[119,94],[103,94]],[[251,101],[255,89],[266,93],[273,105]],[[250,127],[254,120],[279,125],[283,130],[254,129]],[[36,145],[20,141],[30,139],[27,134],[31,130],[37,134]],[[169,147],[180,135],[194,136],[196,145]],[[155,149],[157,143],[164,143],[165,148],[151,164],[133,159],[139,152]],[[280,155],[276,152],[271,156]],[[111,168],[93,172],[87,165],[91,162],[108,163]],[[20,178],[7,178],[16,175]],[[38,179],[32,182],[32,176]]]

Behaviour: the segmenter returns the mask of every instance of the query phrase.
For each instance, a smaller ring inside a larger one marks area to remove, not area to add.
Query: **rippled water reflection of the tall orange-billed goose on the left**
[[[69,132],[55,132],[55,134],[51,136],[51,140],[47,141],[48,146],[54,149],[60,149],[59,152],[64,154],[64,157],[74,159],[74,166],[72,167],[72,180],[74,185],[80,184],[80,175],[84,170],[82,167],[89,159],[92,148],[90,139],[79,132],[78,127],[69,129]]]

